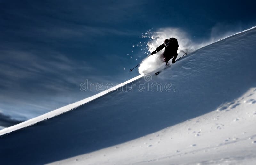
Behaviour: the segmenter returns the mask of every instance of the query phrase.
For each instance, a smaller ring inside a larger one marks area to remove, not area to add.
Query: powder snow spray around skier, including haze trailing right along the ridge
[[[184,32],[183,30],[179,28],[162,28],[154,33],[149,33],[152,40],[148,42],[148,50],[149,52],[153,52],[156,50],[156,48],[161,45],[165,39],[169,39],[171,37],[175,37],[178,40],[179,43],[179,49],[178,49],[178,57],[181,57],[182,55],[187,52],[188,54],[201,48],[206,45],[212,44],[218,40],[224,39],[228,36],[231,36],[232,34],[235,34],[237,32],[226,32],[223,33],[220,31],[220,34],[217,34],[218,29],[213,28],[211,33],[211,38],[208,41],[204,41],[202,43],[193,43],[189,37],[189,35]],[[149,37],[149,36],[146,36]],[[164,52],[164,49],[160,52],[157,52],[154,55],[149,56],[148,58],[144,59],[142,63],[139,66],[139,73],[140,74],[148,74],[148,73],[154,73],[157,71],[162,70],[165,68],[165,63],[163,63],[163,59],[160,57],[160,55]],[[171,61],[170,61],[171,62]]]

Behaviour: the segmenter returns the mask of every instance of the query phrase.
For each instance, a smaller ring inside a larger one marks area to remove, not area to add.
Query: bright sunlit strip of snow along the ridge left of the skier
[[[71,111],[73,109],[76,109],[77,107],[80,107],[80,106],[82,106],[82,105],[84,105],[84,104],[86,104],[86,103],[88,103],[92,100],[95,100],[99,97],[102,97],[102,96],[104,96],[104,95],[106,95],[106,94],[108,94],[108,93],[110,93],[110,92],[128,84],[128,83],[132,83],[133,81],[136,81],[136,80],[140,79],[143,76],[144,75],[138,75],[138,76],[136,76],[136,77],[134,77],[130,80],[125,81],[124,83],[118,84],[118,85],[116,85],[112,88],[109,88],[108,90],[104,90],[103,92],[100,92],[100,93],[98,93],[96,95],[93,95],[91,97],[85,98],[83,100],[77,101],[77,102],[72,103],[72,104],[68,104],[64,107],[61,107],[61,108],[58,108],[56,110],[50,111],[48,113],[45,113],[43,115],[40,115],[40,116],[32,118],[32,119],[29,119],[27,121],[16,124],[14,126],[4,128],[4,129],[0,130],[0,137],[3,136],[3,135],[6,135],[8,133],[11,133],[13,131],[16,131],[16,130],[19,130],[19,129],[22,129],[22,128],[25,128],[25,127],[28,127],[28,126],[31,126],[31,125],[34,125],[34,124],[36,124],[38,122],[41,122],[43,120],[47,120],[49,118],[53,118],[53,117],[58,116],[60,114],[63,114],[63,113],[66,113],[68,111]]]

